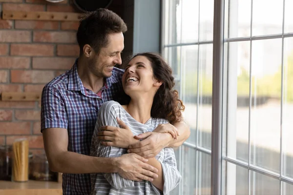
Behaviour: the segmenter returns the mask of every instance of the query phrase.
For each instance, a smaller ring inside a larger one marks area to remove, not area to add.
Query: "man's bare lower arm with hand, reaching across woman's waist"
[[[115,158],[86,156],[67,151],[68,134],[63,128],[43,130],[44,148],[49,167],[54,172],[85,174],[85,173],[119,173],[127,179],[137,178],[151,180],[157,175],[156,169],[146,164],[140,156],[123,155]],[[130,154],[129,154],[130,155]]]

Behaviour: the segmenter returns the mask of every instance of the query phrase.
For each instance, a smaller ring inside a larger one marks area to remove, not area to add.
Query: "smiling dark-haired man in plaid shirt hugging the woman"
[[[44,148],[52,171],[63,174],[63,194],[90,194],[90,173],[118,173],[131,179],[151,181],[157,170],[146,163],[164,147],[181,145],[189,137],[184,122],[160,125],[158,128],[177,130],[169,133],[146,133],[136,138],[139,144],[129,146],[129,153],[116,158],[88,156],[90,143],[102,103],[119,98],[123,91],[121,64],[124,49],[124,21],[112,11],[98,9],[81,20],[77,31],[80,56],[71,70],[54,78],[42,91],[41,129]],[[121,98],[121,97],[120,97]],[[105,145],[124,146],[127,126],[104,127],[110,135],[100,135],[112,142]],[[177,128],[177,129],[176,129]],[[155,135],[156,134],[156,135]],[[143,157],[144,156],[144,157]]]

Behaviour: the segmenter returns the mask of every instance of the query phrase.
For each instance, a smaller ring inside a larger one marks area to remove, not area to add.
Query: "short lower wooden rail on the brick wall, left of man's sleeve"
[[[40,101],[42,92],[2,92],[1,101]]]

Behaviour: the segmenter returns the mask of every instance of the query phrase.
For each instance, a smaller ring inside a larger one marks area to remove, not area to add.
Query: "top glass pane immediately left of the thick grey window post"
[[[199,11],[199,40],[213,38],[213,0],[200,0]],[[192,12],[192,11],[191,11]],[[189,15],[189,13],[187,13]]]

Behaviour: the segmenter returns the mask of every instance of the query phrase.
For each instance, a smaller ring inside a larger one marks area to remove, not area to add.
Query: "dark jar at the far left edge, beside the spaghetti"
[[[12,146],[0,146],[0,180],[11,180]]]

